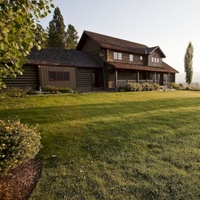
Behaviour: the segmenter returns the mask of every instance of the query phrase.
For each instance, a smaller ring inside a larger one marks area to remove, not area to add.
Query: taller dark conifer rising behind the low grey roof
[[[48,46],[65,48],[65,24],[60,9],[54,10],[53,19],[49,22]]]

